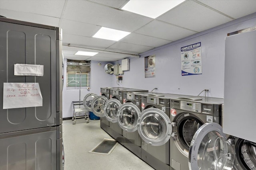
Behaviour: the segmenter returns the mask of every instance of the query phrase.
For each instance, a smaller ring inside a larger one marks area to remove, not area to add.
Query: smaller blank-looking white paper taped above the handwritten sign
[[[14,64],[15,76],[43,76],[44,66],[35,64]]]

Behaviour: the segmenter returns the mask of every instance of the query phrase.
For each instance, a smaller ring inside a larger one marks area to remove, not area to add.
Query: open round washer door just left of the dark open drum
[[[164,145],[172,133],[170,118],[160,109],[145,109],[138,118],[138,133],[152,146]]]

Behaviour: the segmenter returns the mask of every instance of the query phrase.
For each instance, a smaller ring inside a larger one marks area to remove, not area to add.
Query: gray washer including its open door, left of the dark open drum
[[[142,138],[141,158],[157,170],[170,169],[170,98],[175,94],[142,94],[138,133]]]

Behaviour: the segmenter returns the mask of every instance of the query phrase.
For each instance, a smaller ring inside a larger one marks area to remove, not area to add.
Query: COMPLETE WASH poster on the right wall
[[[201,42],[180,48],[182,76],[202,74]]]

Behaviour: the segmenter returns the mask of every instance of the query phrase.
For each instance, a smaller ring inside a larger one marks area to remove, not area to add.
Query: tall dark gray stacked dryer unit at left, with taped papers
[[[61,33],[58,27],[0,18],[1,170],[63,168]],[[43,65],[43,76],[16,76],[14,64]],[[42,106],[3,109],[4,83],[38,83]]]

